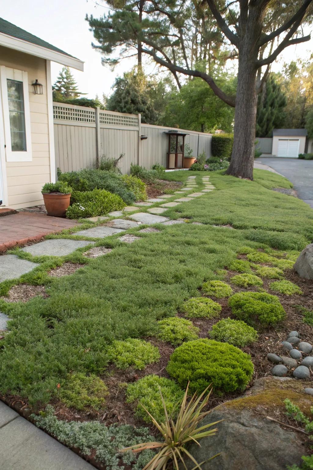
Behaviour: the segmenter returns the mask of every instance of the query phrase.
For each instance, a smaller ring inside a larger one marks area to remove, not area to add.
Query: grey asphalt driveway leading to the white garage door
[[[293,183],[298,197],[313,209],[313,160],[298,158],[260,157],[258,163],[274,168]]]

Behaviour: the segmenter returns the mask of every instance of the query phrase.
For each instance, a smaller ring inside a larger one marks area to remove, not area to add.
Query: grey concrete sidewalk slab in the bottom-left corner
[[[68,447],[0,401],[1,470],[92,470]]]

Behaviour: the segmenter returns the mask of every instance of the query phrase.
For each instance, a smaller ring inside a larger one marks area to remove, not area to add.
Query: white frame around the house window
[[[28,90],[28,74],[26,71],[10,69],[4,65],[0,66],[0,79],[1,79],[1,94],[3,106],[3,121],[4,121],[4,134],[6,144],[6,159],[7,162],[31,162],[31,113],[30,101]],[[21,152],[12,151],[11,147],[11,129],[10,129],[10,114],[8,103],[8,86],[7,80],[16,80],[23,82],[24,94],[24,116],[25,116],[25,137],[26,137],[26,151]]]

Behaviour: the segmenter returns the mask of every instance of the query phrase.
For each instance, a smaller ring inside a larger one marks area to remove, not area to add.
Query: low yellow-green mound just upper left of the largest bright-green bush
[[[193,326],[190,320],[171,317],[158,321],[159,333],[157,338],[177,346],[183,341],[198,338],[199,329]]]

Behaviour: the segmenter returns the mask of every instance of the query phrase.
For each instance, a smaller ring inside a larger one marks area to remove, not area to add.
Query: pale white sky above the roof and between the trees
[[[108,8],[104,8],[106,4],[99,0],[100,5],[97,5],[97,1],[2,1],[0,16],[84,61],[84,72],[72,69],[79,91],[86,93],[89,98],[94,98],[96,94],[102,97],[102,93],[110,93],[117,76],[131,69],[134,59],[122,61],[115,71],[102,66],[100,53],[91,46],[92,32],[84,19],[86,13],[99,17],[108,12]],[[305,31],[305,34],[309,32]],[[296,60],[297,56],[309,58],[312,50],[313,39],[297,47],[288,47],[280,56],[280,62],[273,64],[272,70],[278,71],[283,61]],[[60,64],[52,63],[52,83],[60,70]]]

